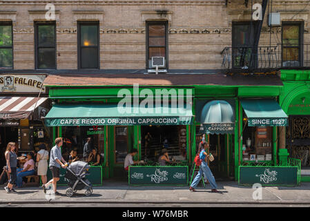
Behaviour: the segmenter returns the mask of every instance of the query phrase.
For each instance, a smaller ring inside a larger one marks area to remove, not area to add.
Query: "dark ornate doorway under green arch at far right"
[[[303,168],[310,167],[310,115],[290,115],[287,126],[289,155],[301,160]]]

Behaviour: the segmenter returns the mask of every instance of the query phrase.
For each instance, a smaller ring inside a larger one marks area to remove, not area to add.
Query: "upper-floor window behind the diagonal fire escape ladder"
[[[256,27],[255,22],[233,23],[233,68],[256,66],[257,48],[253,49]]]

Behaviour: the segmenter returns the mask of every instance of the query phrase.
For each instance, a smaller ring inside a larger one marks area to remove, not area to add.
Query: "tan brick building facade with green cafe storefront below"
[[[81,154],[86,137],[92,137],[104,177],[124,177],[124,156],[133,148],[137,160],[148,158],[156,164],[165,140],[171,156],[191,166],[205,134],[215,155],[215,175],[238,180],[239,166],[279,165],[282,148],[290,157],[299,157],[287,147],[291,144],[283,128],[291,124],[287,117],[296,115],[288,110],[300,106],[287,102],[287,96],[302,87],[306,102],[309,93],[308,2],[254,3],[262,10],[247,0],[1,1],[0,72],[48,75],[44,86],[51,111],[45,124],[50,135],[66,138],[65,155],[72,148]],[[271,26],[269,19],[275,20]],[[164,58],[158,75],[152,57]],[[155,119],[175,117],[172,113],[139,113],[135,117],[148,121],[134,124],[134,115],[109,112],[107,108],[113,110],[122,100],[120,90],[133,95],[134,84],[139,85],[138,93],[175,90],[184,100],[191,94],[186,103],[191,113],[177,116],[188,121],[175,119],[169,125]],[[251,115],[251,108],[260,105],[282,109],[278,115],[268,108],[258,111],[262,115]],[[209,119],[211,113],[217,115]],[[97,122],[61,124],[86,115]],[[113,122],[113,117],[128,121]],[[303,117],[309,119],[309,113]],[[302,145],[309,146],[309,132],[305,137]]]

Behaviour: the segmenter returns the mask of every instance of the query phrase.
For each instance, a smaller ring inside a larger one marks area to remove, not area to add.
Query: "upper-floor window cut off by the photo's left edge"
[[[13,68],[12,23],[0,23],[0,68]]]

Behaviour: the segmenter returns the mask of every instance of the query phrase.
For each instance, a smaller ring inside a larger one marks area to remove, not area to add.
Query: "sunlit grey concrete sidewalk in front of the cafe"
[[[251,186],[238,186],[237,182],[218,182],[221,193],[211,193],[197,187],[197,192],[188,191],[188,186],[128,186],[126,183],[106,182],[104,186],[95,186],[90,197],[84,191],[78,191],[72,198],[66,196],[66,186],[59,186],[52,203],[211,203],[211,204],[310,204],[310,183],[302,183],[296,187],[264,186],[262,200],[253,200],[254,189]],[[0,204],[7,203],[50,203],[39,187],[17,189],[18,193],[6,193],[1,186]]]

